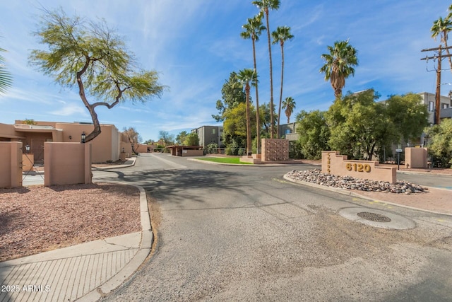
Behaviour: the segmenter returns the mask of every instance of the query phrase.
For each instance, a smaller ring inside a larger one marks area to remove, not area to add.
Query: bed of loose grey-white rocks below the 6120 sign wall
[[[422,193],[428,190],[420,185],[411,182],[398,181],[395,184],[390,182],[364,180],[361,178],[352,178],[351,176],[336,176],[322,173],[319,169],[297,171],[292,170],[286,174],[287,178],[293,180],[302,180],[312,182],[317,185],[325,185],[328,187],[338,187],[349,190],[360,190],[369,192],[387,192],[387,193]]]

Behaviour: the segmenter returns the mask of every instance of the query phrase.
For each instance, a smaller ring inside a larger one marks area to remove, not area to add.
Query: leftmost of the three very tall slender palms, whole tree
[[[266,27],[262,25],[262,13],[259,13],[254,18],[249,18],[248,23],[244,24],[242,28],[244,31],[240,33],[240,36],[244,39],[251,39],[253,44],[253,62],[254,62],[254,73],[257,74],[256,67],[256,41],[259,40],[259,36],[262,30],[266,30]],[[259,93],[257,81],[254,85],[256,87],[256,132],[257,132],[257,148],[256,153],[259,153],[260,139],[261,139],[261,124],[259,120]]]

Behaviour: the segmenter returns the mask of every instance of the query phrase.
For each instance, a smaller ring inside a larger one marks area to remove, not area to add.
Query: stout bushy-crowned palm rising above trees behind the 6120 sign
[[[340,98],[345,79],[355,75],[353,66],[358,65],[357,50],[346,41],[334,42],[334,47],[328,46],[329,54],[322,54],[326,61],[320,69],[325,74],[325,81],[330,80],[335,98]]]

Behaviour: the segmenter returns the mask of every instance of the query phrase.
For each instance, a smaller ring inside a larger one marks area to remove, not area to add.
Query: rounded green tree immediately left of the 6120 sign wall
[[[330,128],[326,122],[326,112],[302,110],[297,117],[298,146],[304,158],[320,159],[323,150],[329,150]]]

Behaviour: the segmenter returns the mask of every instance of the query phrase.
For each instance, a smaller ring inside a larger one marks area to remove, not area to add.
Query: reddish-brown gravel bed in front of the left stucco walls
[[[0,261],[138,231],[136,187],[96,183],[0,190]]]

